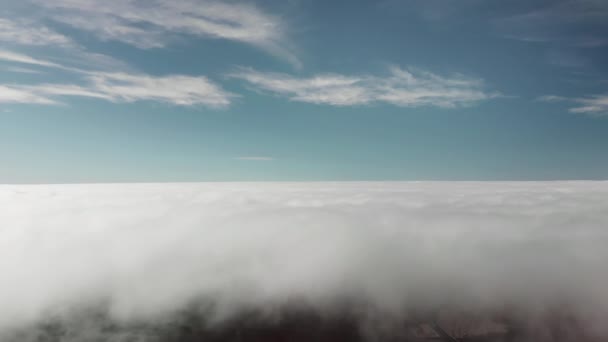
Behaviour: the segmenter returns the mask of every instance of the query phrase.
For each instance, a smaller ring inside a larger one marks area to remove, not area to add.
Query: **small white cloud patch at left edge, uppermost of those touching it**
[[[71,45],[71,40],[53,30],[26,21],[0,18],[0,41],[20,45]]]

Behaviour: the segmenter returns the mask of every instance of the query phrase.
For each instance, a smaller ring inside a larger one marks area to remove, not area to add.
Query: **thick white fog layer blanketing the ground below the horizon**
[[[0,340],[58,319],[95,341],[156,341],[101,325],[290,306],[366,331],[566,310],[602,338],[607,246],[608,182],[4,185]]]

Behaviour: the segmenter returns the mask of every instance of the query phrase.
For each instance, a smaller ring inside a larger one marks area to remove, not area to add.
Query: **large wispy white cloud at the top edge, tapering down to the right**
[[[100,39],[142,49],[161,48],[179,35],[225,39],[256,46],[299,66],[286,26],[250,4],[214,0],[31,0],[46,15]]]

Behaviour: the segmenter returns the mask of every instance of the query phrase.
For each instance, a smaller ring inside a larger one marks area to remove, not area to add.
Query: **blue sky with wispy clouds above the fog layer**
[[[0,0],[0,183],[608,178],[602,0]]]

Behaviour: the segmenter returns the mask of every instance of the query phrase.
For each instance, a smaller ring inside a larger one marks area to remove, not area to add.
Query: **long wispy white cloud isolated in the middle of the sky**
[[[333,106],[388,103],[400,107],[453,108],[498,96],[485,90],[482,80],[455,75],[442,77],[421,70],[393,66],[387,76],[320,74],[297,78],[288,74],[243,68],[229,74],[254,87],[292,101]]]

